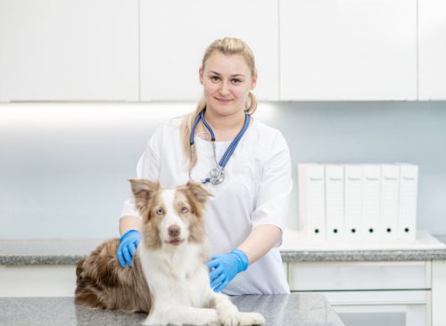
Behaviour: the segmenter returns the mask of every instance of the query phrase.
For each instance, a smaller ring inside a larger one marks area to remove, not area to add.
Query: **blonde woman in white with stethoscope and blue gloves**
[[[236,38],[216,40],[204,54],[199,76],[202,100],[193,113],[157,129],[138,162],[137,177],[167,188],[190,179],[206,182],[214,195],[206,208],[214,256],[206,265],[215,291],[288,293],[277,246],[292,189],[290,154],[279,131],[252,118],[257,107],[252,51]],[[123,267],[131,266],[141,239],[138,216],[133,200],[127,200],[118,249]]]

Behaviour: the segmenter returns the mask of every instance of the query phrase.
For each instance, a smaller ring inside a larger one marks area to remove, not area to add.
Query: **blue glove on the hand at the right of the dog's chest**
[[[248,268],[248,257],[240,249],[234,249],[228,254],[215,255],[206,263],[211,278],[211,288],[219,292],[227,287],[235,275]]]

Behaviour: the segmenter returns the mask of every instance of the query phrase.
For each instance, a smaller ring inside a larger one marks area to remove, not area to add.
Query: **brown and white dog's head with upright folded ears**
[[[143,237],[150,249],[181,246],[205,237],[204,204],[211,196],[200,183],[188,182],[176,189],[160,183],[130,179],[136,207],[143,216]]]

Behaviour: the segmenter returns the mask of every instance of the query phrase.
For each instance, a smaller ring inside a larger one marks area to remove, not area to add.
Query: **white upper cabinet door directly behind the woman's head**
[[[239,37],[254,52],[260,100],[278,100],[275,0],[141,0],[141,100],[196,101],[202,56],[217,38]]]

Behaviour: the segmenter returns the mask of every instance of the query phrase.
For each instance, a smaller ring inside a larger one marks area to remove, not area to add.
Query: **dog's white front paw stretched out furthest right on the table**
[[[237,307],[227,296],[221,293],[213,293],[211,302],[214,302],[219,322],[224,326],[264,325],[265,318],[257,313],[240,313]]]

